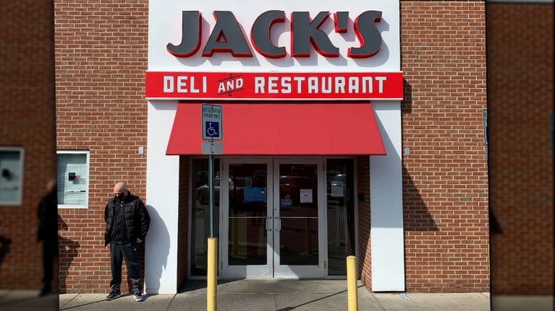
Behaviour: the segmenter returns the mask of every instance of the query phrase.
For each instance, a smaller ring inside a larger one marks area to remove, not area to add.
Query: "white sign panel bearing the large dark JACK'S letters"
[[[149,71],[399,72],[400,42],[398,0],[149,1]]]

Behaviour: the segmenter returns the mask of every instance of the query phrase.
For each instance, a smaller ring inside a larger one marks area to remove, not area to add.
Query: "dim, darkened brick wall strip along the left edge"
[[[0,205],[0,288],[38,290],[37,206],[56,180],[53,3],[5,1],[0,14],[0,146],[23,148],[22,202]]]

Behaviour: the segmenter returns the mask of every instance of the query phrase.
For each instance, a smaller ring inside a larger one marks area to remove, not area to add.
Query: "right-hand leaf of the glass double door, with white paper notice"
[[[323,164],[277,160],[274,165],[274,276],[325,276]]]

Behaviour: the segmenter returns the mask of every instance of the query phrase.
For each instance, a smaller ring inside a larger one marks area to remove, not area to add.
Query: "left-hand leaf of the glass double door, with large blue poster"
[[[220,183],[223,278],[273,277],[270,164],[270,160],[223,161],[222,179],[228,180]]]

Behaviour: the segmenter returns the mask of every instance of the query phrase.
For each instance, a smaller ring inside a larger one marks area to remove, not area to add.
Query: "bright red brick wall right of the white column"
[[[401,1],[408,292],[490,288],[484,1]]]

